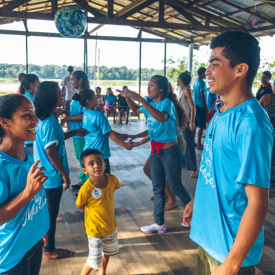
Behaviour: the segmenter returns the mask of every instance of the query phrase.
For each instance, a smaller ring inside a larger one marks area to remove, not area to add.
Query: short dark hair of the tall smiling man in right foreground
[[[248,32],[229,31],[212,39],[210,49],[215,47],[224,47],[222,54],[230,62],[230,67],[248,64],[246,82],[251,87],[260,65],[259,41]]]

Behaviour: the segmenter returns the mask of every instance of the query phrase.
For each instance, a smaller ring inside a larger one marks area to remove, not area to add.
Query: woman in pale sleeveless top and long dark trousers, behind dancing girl
[[[190,177],[196,178],[197,175],[197,156],[195,151],[195,115],[196,107],[192,99],[192,90],[190,89],[191,76],[189,72],[184,72],[177,78],[177,85],[181,89],[178,100],[190,115],[188,127],[182,131],[184,140],[186,141],[186,153],[184,154],[184,163],[187,170],[191,170]]]

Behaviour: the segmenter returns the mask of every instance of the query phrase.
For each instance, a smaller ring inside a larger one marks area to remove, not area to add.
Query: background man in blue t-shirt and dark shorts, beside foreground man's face
[[[196,105],[196,118],[195,124],[198,127],[197,132],[197,149],[202,150],[201,137],[203,129],[206,129],[206,117],[208,115],[208,107],[206,103],[206,83],[203,79],[206,78],[206,68],[200,67],[197,71],[198,78],[193,84],[193,99]]]

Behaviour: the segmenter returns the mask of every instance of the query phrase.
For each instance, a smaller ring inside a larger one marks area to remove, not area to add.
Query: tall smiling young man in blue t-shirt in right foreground
[[[197,275],[254,275],[274,142],[267,113],[252,94],[259,41],[247,32],[224,32],[210,48],[206,76],[223,105],[208,125],[195,199],[183,218],[187,226],[192,221],[190,238],[199,244]]]

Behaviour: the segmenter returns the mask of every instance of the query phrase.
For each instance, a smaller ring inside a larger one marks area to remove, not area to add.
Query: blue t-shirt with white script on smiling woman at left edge
[[[27,159],[14,159],[0,151],[0,206],[21,192],[27,183],[34,157],[25,148]],[[44,188],[10,221],[0,225],[0,273],[17,265],[26,252],[50,228]]]

